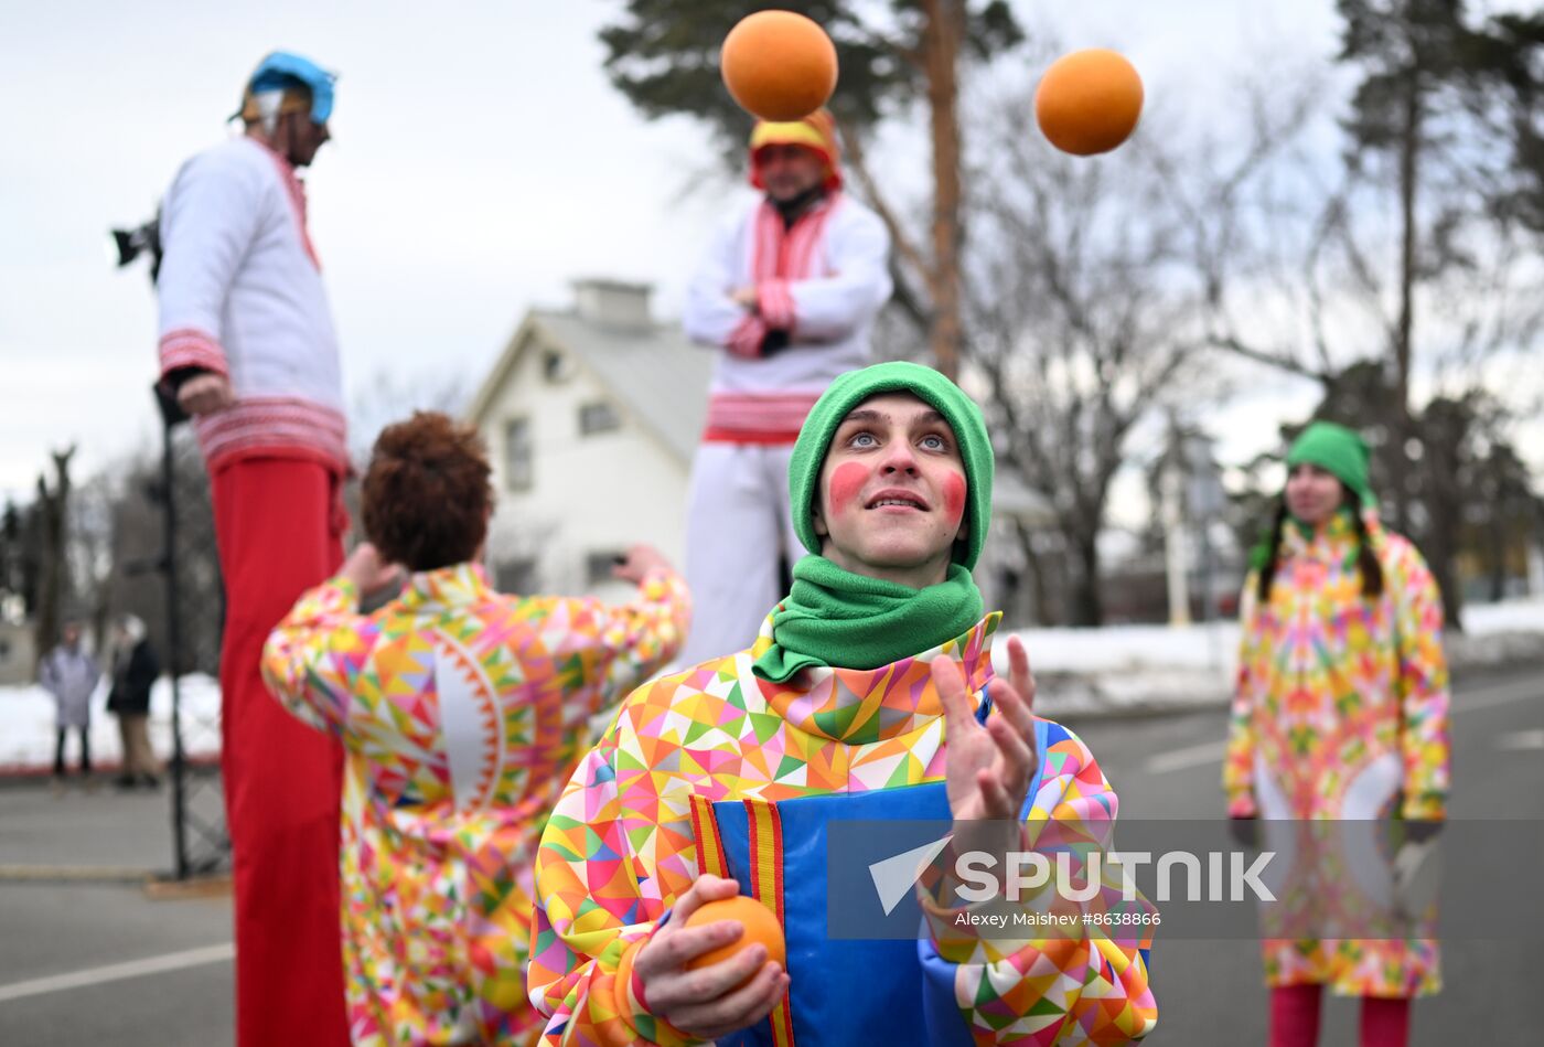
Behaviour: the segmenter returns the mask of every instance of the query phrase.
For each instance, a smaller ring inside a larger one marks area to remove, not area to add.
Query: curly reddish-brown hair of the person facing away
[[[465,564],[488,531],[493,486],[477,429],[415,411],[381,429],[364,473],[364,533],[412,571]]]

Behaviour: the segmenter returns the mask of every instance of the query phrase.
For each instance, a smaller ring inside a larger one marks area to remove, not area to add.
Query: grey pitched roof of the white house
[[[679,324],[616,326],[576,312],[533,309],[472,398],[468,415],[482,422],[516,360],[530,344],[567,349],[682,463],[690,463],[707,417],[713,354],[692,344]]]

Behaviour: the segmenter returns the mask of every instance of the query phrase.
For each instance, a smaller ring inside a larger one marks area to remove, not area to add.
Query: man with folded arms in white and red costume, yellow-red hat
[[[780,559],[803,556],[784,497],[794,440],[831,380],[872,360],[891,292],[889,235],[841,191],[829,113],[757,124],[750,184],[766,195],[720,230],[684,313],[687,335],[718,351],[687,494],[693,662],[755,639],[783,593]]]

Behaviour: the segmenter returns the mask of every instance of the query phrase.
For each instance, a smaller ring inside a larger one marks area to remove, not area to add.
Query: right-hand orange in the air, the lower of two
[[[1109,153],[1143,114],[1143,79],[1115,51],[1064,54],[1034,90],[1034,119],[1050,144],[1075,156]]]

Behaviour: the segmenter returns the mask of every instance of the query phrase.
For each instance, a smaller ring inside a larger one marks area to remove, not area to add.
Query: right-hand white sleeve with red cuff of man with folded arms
[[[874,320],[889,301],[889,233],[868,212],[826,230],[834,270],[817,280],[760,284],[761,315],[769,327],[792,330],[797,341],[840,341]]]

